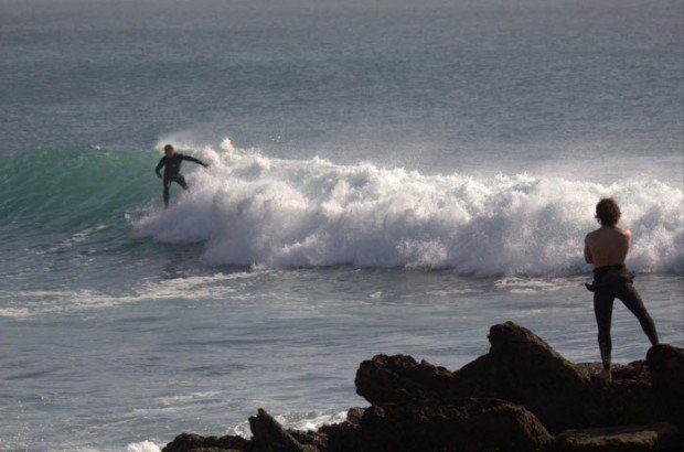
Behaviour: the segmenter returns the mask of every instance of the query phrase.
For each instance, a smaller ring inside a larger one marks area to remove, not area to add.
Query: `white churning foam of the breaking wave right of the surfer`
[[[629,265],[684,269],[683,193],[654,180],[605,186],[527,174],[423,175],[373,164],[279,160],[256,151],[197,150],[209,171],[168,211],[131,219],[139,237],[206,241],[211,263],[270,268],[352,263],[453,268],[474,275],[571,275],[596,202],[613,196],[633,233]]]

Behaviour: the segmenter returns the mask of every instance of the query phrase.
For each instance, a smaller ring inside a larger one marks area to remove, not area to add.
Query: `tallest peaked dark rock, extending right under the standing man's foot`
[[[522,405],[551,432],[653,421],[650,386],[638,380],[591,380],[531,331],[513,322],[490,329],[488,355],[455,373],[455,394],[495,397]],[[643,369],[628,369],[638,376]]]

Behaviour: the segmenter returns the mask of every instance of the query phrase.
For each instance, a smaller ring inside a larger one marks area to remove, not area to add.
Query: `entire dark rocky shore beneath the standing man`
[[[356,392],[371,406],[318,431],[284,429],[265,410],[253,437],[182,433],[165,452],[682,451],[684,349],[656,345],[645,360],[591,378],[513,322],[490,329],[491,348],[450,372],[405,355],[361,363]]]

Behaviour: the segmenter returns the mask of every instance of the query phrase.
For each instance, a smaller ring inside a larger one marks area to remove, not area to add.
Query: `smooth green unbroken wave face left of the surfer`
[[[33,232],[110,224],[159,191],[152,151],[93,147],[14,153],[1,162],[0,218]]]

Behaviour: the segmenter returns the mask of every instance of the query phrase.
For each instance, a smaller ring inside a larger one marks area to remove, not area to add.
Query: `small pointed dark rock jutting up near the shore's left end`
[[[249,418],[252,451],[254,452],[316,452],[318,448],[301,444],[264,409]]]

